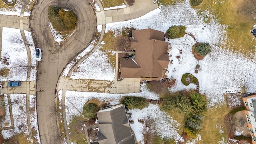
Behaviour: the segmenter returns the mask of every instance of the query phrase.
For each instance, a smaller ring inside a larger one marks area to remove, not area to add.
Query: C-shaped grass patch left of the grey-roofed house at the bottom
[[[87,144],[87,141],[86,141],[86,136],[85,134],[79,134],[77,131],[76,131],[76,124],[80,121],[86,121],[87,119],[84,118],[84,116],[76,116],[76,117],[73,117],[73,120],[72,122],[69,124],[69,130],[68,130],[68,133],[69,134],[69,139],[71,142],[76,142],[76,144]]]

